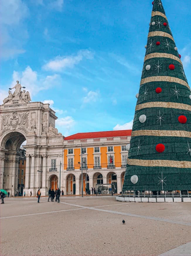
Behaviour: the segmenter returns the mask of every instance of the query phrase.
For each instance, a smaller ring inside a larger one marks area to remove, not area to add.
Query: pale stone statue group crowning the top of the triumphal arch
[[[17,81],[16,85],[12,88],[9,88],[8,96],[3,100],[4,104],[13,104],[14,103],[28,103],[31,101],[29,92],[26,92],[25,90],[21,91],[22,87],[21,84],[19,84],[19,81]],[[12,89],[15,89],[15,91],[12,94]]]

